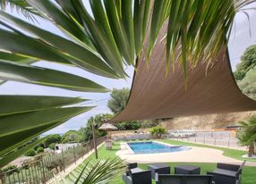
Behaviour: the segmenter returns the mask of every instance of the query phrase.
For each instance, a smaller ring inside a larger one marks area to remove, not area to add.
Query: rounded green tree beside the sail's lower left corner
[[[110,94],[111,99],[107,102],[107,107],[113,113],[120,113],[124,110],[130,94],[129,88],[116,89],[114,88]]]

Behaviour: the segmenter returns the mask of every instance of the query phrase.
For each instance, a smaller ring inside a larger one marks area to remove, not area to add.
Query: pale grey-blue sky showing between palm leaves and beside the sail
[[[88,8],[88,1],[83,1]],[[251,4],[250,7],[256,7],[255,4]],[[15,12],[15,10],[11,11],[7,9],[8,12],[12,12],[13,15],[24,19],[20,13]],[[240,62],[240,57],[242,56],[244,50],[247,46],[251,46],[256,44],[256,11],[250,10],[246,11],[250,15],[250,19],[247,18],[245,13],[237,13],[235,16],[235,24],[231,31],[230,40],[228,43],[228,50],[231,60],[231,66],[233,71],[235,71],[235,66]],[[58,29],[55,28],[52,24],[47,21],[39,20],[38,26],[49,31],[54,32],[55,34],[64,36]],[[37,23],[36,23],[37,24]],[[250,34],[251,32],[251,34]],[[133,68],[127,67],[125,71],[128,73],[130,78],[127,79],[107,79],[103,77],[99,77],[97,75],[91,74],[90,72],[83,71],[79,68],[75,68],[72,66],[60,65],[57,63],[49,63],[46,61],[40,61],[38,63],[34,63],[34,65],[57,69],[59,71],[66,71],[73,73],[75,75],[79,75],[81,77],[86,77],[91,79],[98,84],[109,88],[131,88],[132,85],[132,76],[133,76]],[[43,87],[33,84],[26,84],[15,81],[5,82],[0,86],[0,95],[43,95],[43,96],[79,96],[86,99],[92,99],[90,102],[86,102],[83,105],[97,105],[96,108],[91,110],[88,113],[82,113],[73,119],[66,121],[64,124],[56,127],[53,130],[47,131],[45,134],[51,133],[64,133],[68,130],[79,130],[81,127],[86,126],[87,120],[98,113],[111,113],[107,108],[107,100],[110,99],[109,93],[85,93],[85,92],[75,92],[67,89],[61,88],[51,88],[51,87]]]

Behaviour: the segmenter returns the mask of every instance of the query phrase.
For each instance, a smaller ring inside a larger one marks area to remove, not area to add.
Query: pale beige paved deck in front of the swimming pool
[[[158,142],[158,141],[156,141]],[[162,142],[158,142],[163,144]],[[166,144],[166,143],[164,143]],[[166,144],[170,146],[169,144]],[[130,146],[121,143],[121,150],[117,151],[122,160],[127,163],[233,163],[241,164],[243,161],[222,155],[223,151],[213,148],[190,146],[190,150],[158,153],[158,154],[133,154]],[[256,163],[247,162],[248,166],[256,166]]]

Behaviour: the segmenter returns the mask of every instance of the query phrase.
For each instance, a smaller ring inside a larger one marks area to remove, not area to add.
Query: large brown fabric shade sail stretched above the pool
[[[194,69],[188,67],[186,89],[179,63],[175,63],[175,71],[170,68],[166,77],[166,42],[161,39],[165,35],[166,25],[152,51],[149,69],[145,54],[141,54],[128,104],[111,121],[256,110],[256,102],[244,96],[235,83],[226,49],[208,70],[208,63],[199,63]]]

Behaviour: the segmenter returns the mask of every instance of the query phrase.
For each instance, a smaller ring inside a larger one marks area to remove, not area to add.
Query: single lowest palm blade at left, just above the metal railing
[[[91,107],[50,108],[29,113],[17,113],[0,117],[1,152],[6,153],[26,138],[32,138],[43,131],[53,128],[73,116],[89,111]],[[13,140],[9,142],[9,140]]]

